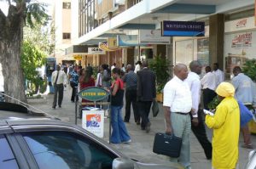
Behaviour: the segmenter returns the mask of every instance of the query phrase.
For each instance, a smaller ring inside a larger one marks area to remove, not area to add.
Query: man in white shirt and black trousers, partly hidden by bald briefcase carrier
[[[189,72],[189,76],[187,77],[185,82],[188,82],[189,84],[192,98],[191,129],[192,132],[194,132],[195,137],[201,144],[201,147],[204,149],[207,159],[211,160],[212,144],[207,138],[204,121],[201,118],[202,110],[200,109],[201,83],[199,75],[201,74],[201,63],[197,60],[194,60],[189,64],[189,68],[191,71]]]

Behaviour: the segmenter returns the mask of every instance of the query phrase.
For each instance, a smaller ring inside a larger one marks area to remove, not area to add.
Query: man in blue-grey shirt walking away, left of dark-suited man
[[[137,111],[137,74],[134,73],[132,65],[127,65],[127,73],[123,81],[125,82],[125,122],[130,121],[131,103],[134,113],[134,120],[140,125],[140,115]]]

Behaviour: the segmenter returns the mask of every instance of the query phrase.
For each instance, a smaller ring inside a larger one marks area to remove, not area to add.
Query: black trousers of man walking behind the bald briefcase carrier
[[[198,126],[194,126],[193,123],[191,123],[191,129],[195,134],[195,137],[198,139],[199,143],[201,144],[202,148],[205,151],[205,155],[207,156],[207,159],[212,159],[212,144],[207,138],[207,132],[204,125],[204,121],[201,117],[202,110],[198,110]]]

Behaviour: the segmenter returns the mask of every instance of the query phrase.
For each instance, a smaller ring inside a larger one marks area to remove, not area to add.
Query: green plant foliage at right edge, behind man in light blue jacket
[[[256,59],[248,59],[242,66],[242,72],[249,76],[254,82],[256,81]]]

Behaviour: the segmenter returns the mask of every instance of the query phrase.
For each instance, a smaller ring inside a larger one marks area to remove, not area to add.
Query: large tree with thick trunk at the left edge
[[[6,0],[9,12],[3,14],[0,8],[0,63],[3,67],[4,92],[15,99],[26,102],[25,77],[21,69],[21,46],[23,27],[33,26],[48,19],[44,3],[30,0]],[[13,99],[8,99],[14,102]]]

